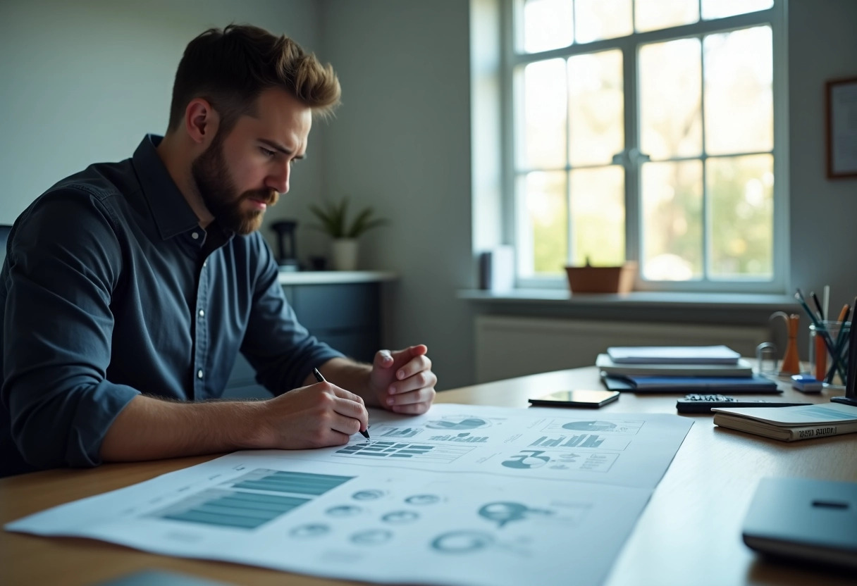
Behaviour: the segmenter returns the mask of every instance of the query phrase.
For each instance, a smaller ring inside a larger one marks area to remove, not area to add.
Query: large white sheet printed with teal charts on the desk
[[[6,525],[379,583],[597,584],[692,421],[434,405],[372,439],[240,451]]]

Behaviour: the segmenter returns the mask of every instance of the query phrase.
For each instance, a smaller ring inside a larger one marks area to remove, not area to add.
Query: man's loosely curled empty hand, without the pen
[[[369,386],[378,402],[393,413],[422,415],[434,401],[437,376],[431,371],[425,344],[405,350],[378,350]]]

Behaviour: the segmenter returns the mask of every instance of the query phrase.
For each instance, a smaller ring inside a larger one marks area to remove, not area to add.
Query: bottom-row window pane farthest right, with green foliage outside
[[[711,278],[771,278],[774,273],[774,158],[709,158]]]

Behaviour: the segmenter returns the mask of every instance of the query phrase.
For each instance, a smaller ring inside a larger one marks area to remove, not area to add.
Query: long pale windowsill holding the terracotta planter
[[[602,308],[716,308],[800,311],[793,296],[763,293],[686,293],[672,291],[632,291],[624,294],[590,293],[572,295],[564,289],[514,289],[489,291],[458,290],[458,299],[476,303],[512,303],[549,307]]]

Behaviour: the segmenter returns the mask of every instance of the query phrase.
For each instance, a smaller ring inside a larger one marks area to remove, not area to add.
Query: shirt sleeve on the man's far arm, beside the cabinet
[[[274,395],[298,386],[314,367],[344,356],[312,336],[297,321],[279,284],[271,249],[256,239],[257,271],[253,303],[241,351],[256,370],[256,380]]]

